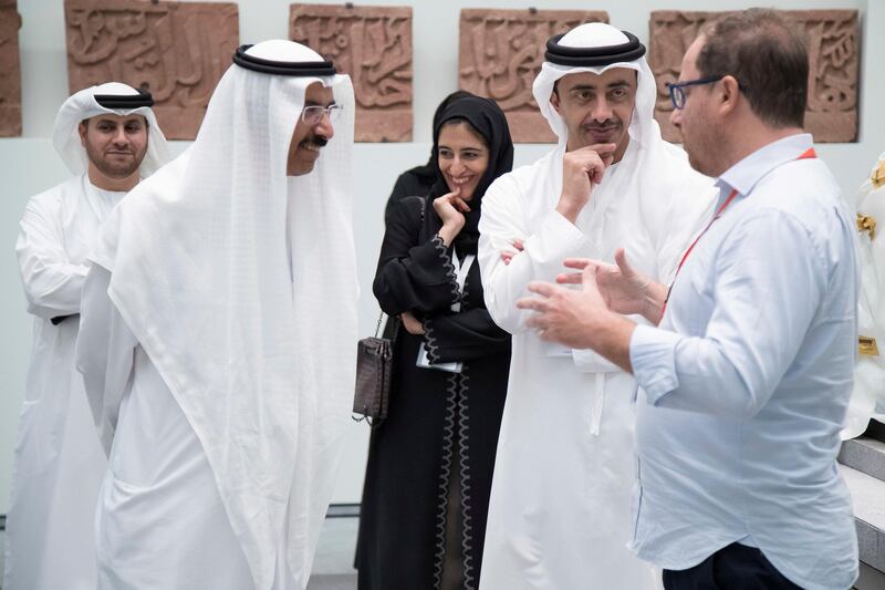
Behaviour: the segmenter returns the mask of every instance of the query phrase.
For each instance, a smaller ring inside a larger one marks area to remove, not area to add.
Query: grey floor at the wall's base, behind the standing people
[[[325,519],[308,590],[354,590],[356,588],[353,550],[356,546],[358,522],[356,517]],[[3,571],[6,546],[6,531],[0,530],[0,583],[2,583],[1,572]]]

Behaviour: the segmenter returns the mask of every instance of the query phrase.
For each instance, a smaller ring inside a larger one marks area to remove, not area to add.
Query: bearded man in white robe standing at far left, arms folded
[[[34,339],[7,518],[8,590],[95,588],[106,459],[74,369],[86,256],[104,218],[168,159],[150,95],[110,82],[67,99],[53,144],[74,174],[31,198],[15,244]]]

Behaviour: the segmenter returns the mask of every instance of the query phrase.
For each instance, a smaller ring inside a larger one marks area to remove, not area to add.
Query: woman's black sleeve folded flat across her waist
[[[424,322],[427,356],[431,363],[472,361],[510,350],[510,334],[477,308],[450,315],[435,315]]]

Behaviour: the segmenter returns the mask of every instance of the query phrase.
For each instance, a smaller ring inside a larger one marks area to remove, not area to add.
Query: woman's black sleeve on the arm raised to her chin
[[[447,310],[458,297],[455,269],[442,240],[419,244],[421,201],[406,198],[387,218],[372,291],[389,315],[412,311],[424,318]]]

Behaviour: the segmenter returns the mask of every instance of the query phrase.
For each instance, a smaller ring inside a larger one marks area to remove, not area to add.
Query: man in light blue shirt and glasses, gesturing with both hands
[[[629,547],[668,589],[850,588],[851,499],[836,469],[852,390],[858,275],[839,187],[802,132],[808,54],[775,13],[706,27],[670,86],[716,215],[667,287],[568,260],[571,290],[519,306],[548,340],[632,372],[638,486]],[[622,314],[642,313],[656,328]]]

